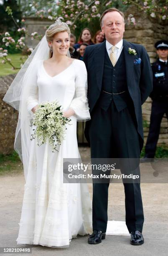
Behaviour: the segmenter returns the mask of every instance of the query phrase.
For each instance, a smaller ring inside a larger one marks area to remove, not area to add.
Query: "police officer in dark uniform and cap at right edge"
[[[145,157],[141,162],[153,160],[160,133],[160,123],[163,115],[168,118],[168,41],[161,40],[155,43],[158,59],[152,64],[153,92],[150,94],[152,110],[150,128],[145,146]],[[149,159],[150,158],[150,159]]]

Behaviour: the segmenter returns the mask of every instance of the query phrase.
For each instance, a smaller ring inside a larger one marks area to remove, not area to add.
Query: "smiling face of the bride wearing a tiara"
[[[53,48],[53,54],[56,55],[66,55],[69,45],[69,35],[66,31],[56,33],[53,41],[49,42],[49,46]]]

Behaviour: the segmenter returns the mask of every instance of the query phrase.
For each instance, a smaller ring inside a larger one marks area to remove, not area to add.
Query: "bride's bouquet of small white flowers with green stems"
[[[37,138],[38,146],[49,141],[52,152],[58,151],[57,144],[61,145],[64,140],[66,124],[71,121],[70,118],[63,116],[61,105],[58,101],[46,102],[38,105],[38,109],[34,113],[31,126],[34,133],[31,134],[31,141]]]

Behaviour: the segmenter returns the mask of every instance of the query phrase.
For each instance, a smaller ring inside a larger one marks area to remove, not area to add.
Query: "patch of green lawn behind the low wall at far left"
[[[11,62],[14,67],[20,68],[20,64],[22,64],[22,61],[20,58],[25,58],[22,54],[8,54],[8,59],[11,59]],[[19,69],[13,70],[12,66],[10,64],[5,63],[3,64],[2,59],[0,59],[0,76],[7,76],[8,74],[16,74],[18,73]],[[25,61],[25,59],[23,59]]]

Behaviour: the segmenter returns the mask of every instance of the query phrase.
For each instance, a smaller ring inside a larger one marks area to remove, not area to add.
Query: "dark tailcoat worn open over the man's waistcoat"
[[[135,49],[137,54],[129,54],[129,48]],[[89,141],[88,129],[89,123],[92,122],[92,110],[94,109],[102,90],[105,50],[106,41],[101,44],[87,46],[83,58],[88,72],[87,96],[91,114],[91,120],[87,121],[85,128],[87,141]],[[145,102],[153,89],[153,74],[149,56],[142,45],[133,44],[123,39],[123,51],[125,56],[127,89],[135,109],[137,132],[141,138],[141,151],[143,147],[143,119],[141,105]],[[136,64],[136,59],[141,59],[141,63]]]

